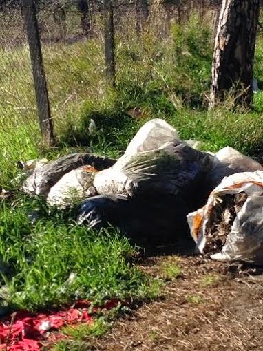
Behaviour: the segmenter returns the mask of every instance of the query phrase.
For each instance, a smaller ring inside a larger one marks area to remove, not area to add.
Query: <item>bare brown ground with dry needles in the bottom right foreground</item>
[[[180,265],[172,279],[164,267]],[[151,257],[141,269],[166,279],[163,296],[93,342],[92,350],[263,350],[263,269],[203,257]]]

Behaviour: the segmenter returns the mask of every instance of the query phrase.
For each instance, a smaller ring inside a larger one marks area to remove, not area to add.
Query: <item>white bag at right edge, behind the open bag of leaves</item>
[[[224,147],[215,153],[213,167],[207,173],[204,184],[211,192],[224,177],[241,172],[263,171],[261,164],[243,155],[233,147]]]

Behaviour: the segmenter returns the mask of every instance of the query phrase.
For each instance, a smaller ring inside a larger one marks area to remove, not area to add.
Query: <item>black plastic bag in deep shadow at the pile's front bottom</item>
[[[180,196],[128,198],[116,194],[83,201],[77,223],[96,229],[111,224],[144,248],[170,245],[180,252],[193,252],[187,213],[187,204]]]

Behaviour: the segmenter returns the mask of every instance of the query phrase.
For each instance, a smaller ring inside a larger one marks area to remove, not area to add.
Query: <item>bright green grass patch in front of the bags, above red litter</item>
[[[41,220],[32,226],[28,213],[36,207]],[[12,306],[36,310],[80,298],[100,302],[156,295],[154,281],[129,263],[136,251],[125,237],[114,228],[87,231],[71,218],[48,211],[41,201],[21,198],[2,205],[0,255],[13,272],[6,281]]]

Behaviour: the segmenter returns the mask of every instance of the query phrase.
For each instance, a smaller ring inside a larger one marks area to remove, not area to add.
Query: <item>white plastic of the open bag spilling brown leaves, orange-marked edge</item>
[[[247,198],[238,211],[224,246],[212,259],[263,264],[263,171],[235,173],[212,191],[206,206],[189,213],[191,235],[200,253],[207,246],[207,228],[213,228],[215,206],[224,195],[244,193]]]

